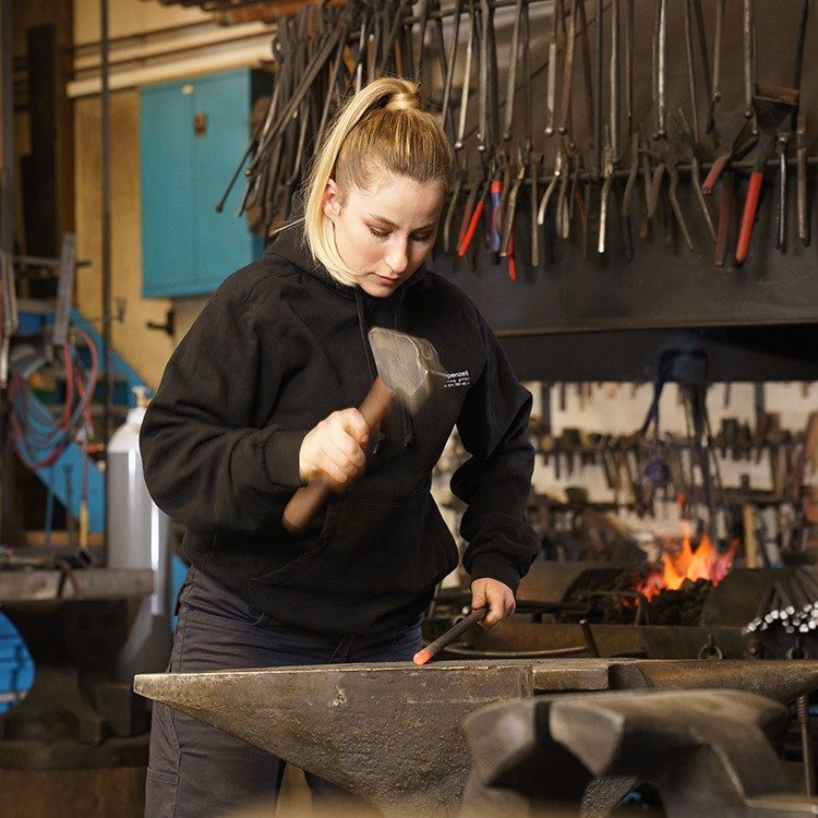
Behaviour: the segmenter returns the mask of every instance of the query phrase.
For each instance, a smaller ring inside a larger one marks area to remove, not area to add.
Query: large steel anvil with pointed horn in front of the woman
[[[334,781],[387,816],[456,814],[471,766],[460,725],[484,705],[544,693],[708,687],[789,702],[818,689],[818,662],[384,662],[134,679],[142,696]]]

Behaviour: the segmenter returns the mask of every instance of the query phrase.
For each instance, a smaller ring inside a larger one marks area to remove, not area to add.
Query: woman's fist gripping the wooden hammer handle
[[[370,428],[358,409],[341,409],[306,433],[298,455],[301,479],[323,478],[336,491],[354,480],[366,462]]]

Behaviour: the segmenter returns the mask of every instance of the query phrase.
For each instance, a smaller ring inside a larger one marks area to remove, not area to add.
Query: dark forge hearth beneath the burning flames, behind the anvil
[[[799,633],[779,621],[747,630],[775,606],[773,587],[797,587],[803,570],[733,568],[718,585],[687,581],[649,599],[634,582],[633,565],[538,561],[520,584],[517,614],[490,631],[470,629],[446,658],[815,658],[816,628]],[[452,627],[468,604],[459,589],[441,592],[424,622],[425,638]]]

